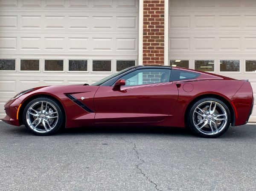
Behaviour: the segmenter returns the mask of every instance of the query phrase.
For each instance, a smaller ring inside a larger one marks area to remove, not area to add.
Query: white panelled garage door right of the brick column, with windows
[[[249,79],[256,97],[255,10],[255,0],[170,0],[170,65]]]

